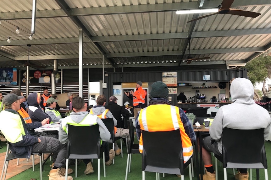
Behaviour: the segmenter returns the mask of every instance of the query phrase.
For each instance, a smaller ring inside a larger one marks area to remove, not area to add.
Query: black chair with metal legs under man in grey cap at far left
[[[17,156],[16,154],[12,153],[9,146],[10,146],[9,142],[7,141],[7,151],[6,151],[6,156],[5,156],[4,165],[3,165],[3,169],[2,169],[1,180],[3,179],[4,171],[5,171],[4,180],[6,179],[7,170],[8,170],[8,162],[10,160],[17,159],[17,158],[26,158],[26,159],[28,158],[27,156]],[[42,153],[32,153],[31,155],[39,155],[40,156],[40,176],[41,176],[41,180],[42,180],[42,160],[41,160]],[[34,156],[33,156],[33,158],[34,158]],[[34,169],[33,169],[33,171],[34,171]]]

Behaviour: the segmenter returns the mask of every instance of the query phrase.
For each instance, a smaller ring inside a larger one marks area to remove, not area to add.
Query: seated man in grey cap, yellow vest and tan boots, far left
[[[53,137],[31,136],[22,123],[24,120],[17,112],[20,109],[19,97],[16,94],[8,94],[3,98],[5,110],[0,113],[0,128],[6,139],[10,142],[10,149],[15,156],[27,156],[30,158],[31,152],[52,153],[58,152],[54,167],[49,174],[49,180],[64,180],[62,165],[65,164],[67,144],[61,144]],[[62,173],[61,173],[62,172]],[[73,180],[69,176],[68,180]]]

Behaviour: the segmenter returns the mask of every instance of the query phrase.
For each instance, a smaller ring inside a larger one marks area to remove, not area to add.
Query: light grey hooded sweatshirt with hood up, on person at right
[[[269,113],[252,99],[254,88],[250,80],[236,78],[230,85],[232,104],[219,108],[212,125],[210,136],[218,141],[218,150],[222,154],[223,128],[251,130],[264,129],[264,141],[268,140],[271,133],[271,120]]]

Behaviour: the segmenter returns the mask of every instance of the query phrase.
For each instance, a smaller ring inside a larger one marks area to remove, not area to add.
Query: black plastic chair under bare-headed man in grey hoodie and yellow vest
[[[101,148],[99,125],[68,125],[68,150],[66,159],[66,176],[68,178],[69,159],[75,160],[75,177],[77,177],[77,159],[98,159],[98,180],[101,178],[101,152],[103,158],[103,174],[105,174],[104,148]]]

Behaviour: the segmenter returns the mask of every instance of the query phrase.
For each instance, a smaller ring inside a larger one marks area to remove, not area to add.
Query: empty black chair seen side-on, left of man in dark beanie
[[[131,169],[132,154],[140,154],[139,144],[134,144],[134,138],[135,138],[134,125],[133,125],[133,121],[131,119],[129,119],[127,121],[127,126],[129,129],[130,141],[128,142],[128,157],[127,157],[125,180],[127,180],[127,177],[128,177],[128,169],[129,169],[129,172]]]

